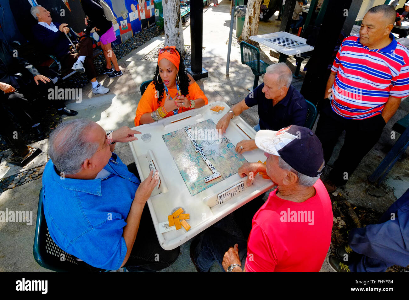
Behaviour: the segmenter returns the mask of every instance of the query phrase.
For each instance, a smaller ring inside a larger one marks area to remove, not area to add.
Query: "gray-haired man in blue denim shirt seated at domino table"
[[[60,124],[49,138],[44,169],[44,214],[54,242],[93,267],[157,271],[179,248],[160,247],[148,207],[157,174],[142,183],[115,153],[115,142],[137,140],[121,127],[106,134],[87,119]],[[135,164],[134,169],[135,168]],[[133,269],[133,268],[130,268]]]

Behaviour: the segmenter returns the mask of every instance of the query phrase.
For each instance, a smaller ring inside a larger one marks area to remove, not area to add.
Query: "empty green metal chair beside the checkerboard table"
[[[255,89],[258,86],[258,78],[265,73],[265,69],[270,66],[270,64],[260,60],[260,51],[258,51],[257,47],[244,41],[240,42],[240,55],[241,63],[247,64],[253,71],[255,76],[253,89]]]

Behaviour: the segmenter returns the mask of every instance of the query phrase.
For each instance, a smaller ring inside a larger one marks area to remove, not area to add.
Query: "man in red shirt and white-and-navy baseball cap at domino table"
[[[255,142],[265,151],[266,165],[246,163],[238,173],[248,176],[247,185],[257,173],[267,173],[277,188],[254,215],[248,240],[211,227],[192,241],[192,261],[198,271],[208,271],[216,260],[225,271],[241,272],[244,258],[244,271],[319,271],[333,225],[331,201],[319,180],[321,142],[310,129],[295,125],[260,130]]]

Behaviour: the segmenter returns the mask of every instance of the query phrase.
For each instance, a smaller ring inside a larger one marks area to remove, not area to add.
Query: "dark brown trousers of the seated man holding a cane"
[[[92,40],[89,37],[82,38],[77,45],[76,53],[73,49],[70,50],[69,54],[61,57],[61,64],[64,68],[72,68],[74,62],[78,60],[79,56],[85,56],[84,68],[85,73],[90,77],[90,79],[97,77],[97,71],[95,71],[94,63],[92,62],[92,55],[94,50],[92,49]]]

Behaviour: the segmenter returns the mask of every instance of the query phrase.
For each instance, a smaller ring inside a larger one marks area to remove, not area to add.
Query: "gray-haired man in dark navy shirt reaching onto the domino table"
[[[231,107],[231,110],[216,124],[216,129],[226,132],[229,122],[246,109],[258,105],[260,120],[254,126],[260,129],[279,130],[289,125],[304,126],[307,117],[307,102],[291,86],[292,73],[283,62],[272,64],[266,69],[263,83],[247,97]],[[236,152],[243,153],[256,149],[254,140],[242,140],[236,145]]]

